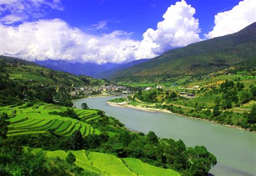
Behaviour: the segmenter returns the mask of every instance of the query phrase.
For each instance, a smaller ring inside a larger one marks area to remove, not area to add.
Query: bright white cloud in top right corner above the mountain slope
[[[217,13],[214,16],[213,30],[205,34],[206,38],[214,38],[238,32],[256,21],[256,1],[244,0],[230,11]]]

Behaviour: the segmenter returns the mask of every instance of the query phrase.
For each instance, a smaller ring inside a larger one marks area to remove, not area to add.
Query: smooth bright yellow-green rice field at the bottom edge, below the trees
[[[101,175],[180,175],[173,170],[152,166],[136,158],[119,159],[111,154],[98,152],[89,152],[86,155],[85,150],[68,152],[62,150],[46,151],[46,156],[65,159],[69,152],[76,156],[75,164],[77,166],[86,171],[96,172]]]

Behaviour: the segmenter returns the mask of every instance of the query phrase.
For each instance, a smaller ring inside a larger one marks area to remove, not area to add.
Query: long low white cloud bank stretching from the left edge
[[[60,19],[0,25],[0,54],[28,60],[64,59],[98,64],[133,60],[138,41],[122,31],[93,36]]]

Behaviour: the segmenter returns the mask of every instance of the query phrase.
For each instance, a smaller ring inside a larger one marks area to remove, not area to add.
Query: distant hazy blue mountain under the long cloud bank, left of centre
[[[57,71],[65,71],[75,75],[88,75],[96,78],[97,74],[100,74],[108,69],[118,67],[122,64],[112,64],[106,63],[98,65],[95,63],[85,62],[85,63],[70,63],[64,60],[45,60],[45,61],[35,61],[36,64],[42,65],[47,68],[55,69]]]

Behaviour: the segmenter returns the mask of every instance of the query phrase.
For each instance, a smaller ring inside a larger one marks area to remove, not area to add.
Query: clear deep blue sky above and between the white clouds
[[[82,30],[104,21],[107,23],[105,29],[89,32],[124,30],[133,32],[132,37],[140,40],[148,28],[156,29],[157,23],[163,20],[162,16],[167,8],[176,2],[173,0],[65,0],[62,1],[64,11],[54,10],[48,17],[64,19],[71,26]],[[194,17],[199,19],[200,37],[203,38],[203,34],[214,27],[214,15],[231,10],[240,1],[187,0],[186,2],[196,9]]]

